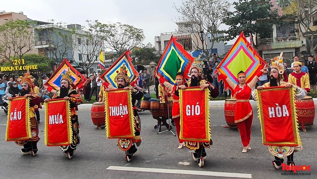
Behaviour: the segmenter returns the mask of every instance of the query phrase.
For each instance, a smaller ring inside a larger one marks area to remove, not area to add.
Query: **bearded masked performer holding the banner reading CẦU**
[[[30,98],[30,122],[31,122],[31,134],[32,137],[28,140],[15,141],[17,145],[23,146],[21,153],[23,155],[31,154],[35,156],[38,152],[37,142],[39,138],[39,125],[35,118],[34,106],[41,104],[41,98],[33,91],[30,73],[26,73],[24,77],[20,77],[21,80],[21,91],[19,96],[25,96]],[[11,97],[8,97],[11,100]]]

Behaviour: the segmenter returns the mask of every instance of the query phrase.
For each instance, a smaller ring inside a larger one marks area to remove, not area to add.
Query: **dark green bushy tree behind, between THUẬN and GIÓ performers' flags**
[[[149,65],[153,61],[159,63],[159,55],[154,47],[134,48],[132,56],[135,57],[136,63],[140,65]]]

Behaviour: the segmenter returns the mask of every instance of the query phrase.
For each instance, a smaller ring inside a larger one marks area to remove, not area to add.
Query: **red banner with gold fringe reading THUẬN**
[[[131,90],[113,89],[106,92],[106,136],[132,138],[135,133]]]

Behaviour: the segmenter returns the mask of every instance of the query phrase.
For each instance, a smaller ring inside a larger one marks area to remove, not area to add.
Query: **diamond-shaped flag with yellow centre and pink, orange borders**
[[[239,84],[237,75],[240,71],[244,71],[247,77],[246,83],[249,83],[257,72],[263,69],[265,64],[266,62],[248,42],[242,31],[227,55],[216,67],[216,72],[219,71],[221,73],[221,75],[218,76],[218,82],[222,80],[225,89],[229,88],[233,91],[226,82],[226,78]],[[234,93],[231,92],[231,95],[233,96]]]

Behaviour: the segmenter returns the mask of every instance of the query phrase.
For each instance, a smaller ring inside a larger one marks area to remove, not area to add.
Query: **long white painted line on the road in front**
[[[106,170],[119,170],[119,171],[130,171],[130,172],[131,171],[154,172],[154,173],[164,173],[164,174],[202,175],[202,176],[214,176],[214,177],[232,177],[232,178],[252,179],[251,174],[208,172],[208,171],[195,171],[195,170],[155,169],[155,168],[120,167],[120,166],[109,166]]]

